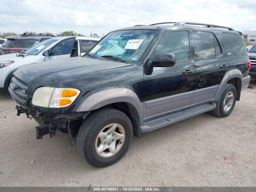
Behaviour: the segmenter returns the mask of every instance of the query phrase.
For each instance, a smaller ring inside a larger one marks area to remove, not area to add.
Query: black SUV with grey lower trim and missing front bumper
[[[166,25],[163,25],[166,24]],[[106,35],[84,57],[27,65],[12,76],[17,115],[76,138],[97,167],[120,160],[139,137],[211,111],[228,116],[250,81],[239,32],[177,22],[134,26]]]

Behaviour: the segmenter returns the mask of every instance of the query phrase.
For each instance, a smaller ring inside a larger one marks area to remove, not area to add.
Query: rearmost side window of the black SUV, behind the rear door
[[[246,55],[247,50],[242,36],[238,34],[223,33],[234,55]]]

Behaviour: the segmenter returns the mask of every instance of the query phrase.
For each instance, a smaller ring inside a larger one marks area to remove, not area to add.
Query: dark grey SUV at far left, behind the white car
[[[52,35],[21,35],[6,37],[6,41],[0,48],[0,54],[17,53],[22,50],[26,51],[31,47],[36,46],[40,42],[50,39]]]

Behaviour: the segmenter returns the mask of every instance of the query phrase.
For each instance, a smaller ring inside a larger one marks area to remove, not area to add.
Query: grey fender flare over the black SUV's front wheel
[[[99,109],[108,104],[126,102],[132,104],[138,112],[140,118],[140,124],[143,122],[143,105],[140,102],[137,94],[127,88],[112,88],[108,90],[102,90],[88,96],[80,106],[77,108],[77,112],[91,111]]]

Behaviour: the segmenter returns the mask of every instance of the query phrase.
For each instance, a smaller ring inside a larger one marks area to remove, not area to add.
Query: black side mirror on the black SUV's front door
[[[172,67],[175,65],[175,55],[172,53],[160,53],[147,64],[148,67]]]

